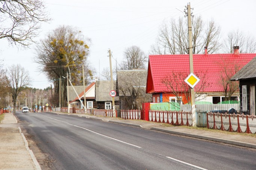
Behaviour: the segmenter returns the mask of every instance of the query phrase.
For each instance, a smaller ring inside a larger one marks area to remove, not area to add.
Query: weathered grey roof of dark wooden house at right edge
[[[231,80],[256,78],[256,57],[239,70]]]

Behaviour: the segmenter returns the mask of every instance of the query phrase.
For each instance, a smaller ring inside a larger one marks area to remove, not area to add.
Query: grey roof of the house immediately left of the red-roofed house
[[[147,70],[118,70],[117,84],[119,96],[130,96],[131,87],[141,89],[146,93]]]

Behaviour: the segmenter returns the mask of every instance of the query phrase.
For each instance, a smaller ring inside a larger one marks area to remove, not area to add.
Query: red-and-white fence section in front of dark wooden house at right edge
[[[256,133],[256,116],[207,113],[207,128],[239,133]]]

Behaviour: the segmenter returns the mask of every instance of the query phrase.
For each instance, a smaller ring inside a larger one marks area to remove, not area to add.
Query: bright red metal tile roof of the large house
[[[193,70],[200,78],[204,74],[205,86],[202,92],[222,92],[223,86],[220,84],[223,67],[237,67],[241,69],[256,56],[253,54],[193,54]],[[147,93],[171,92],[162,83],[163,79],[173,72],[189,71],[189,55],[150,55],[147,75]],[[200,86],[201,81],[196,86]],[[195,87],[196,88],[196,87]]]

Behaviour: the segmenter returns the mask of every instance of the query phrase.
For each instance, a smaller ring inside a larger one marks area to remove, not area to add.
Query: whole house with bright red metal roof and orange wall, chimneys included
[[[195,86],[196,94],[200,95],[195,101],[213,104],[223,101],[225,88],[229,88],[223,84],[223,80],[229,81],[255,56],[255,53],[239,53],[238,46],[234,47],[233,54],[207,54],[207,48],[205,54],[193,54],[193,72],[200,79]],[[183,104],[188,103],[184,91],[189,91],[190,87],[184,85],[184,80],[189,73],[189,54],[150,55],[146,92],[152,94],[153,103],[177,102],[177,94],[181,96]],[[239,89],[231,100],[235,98],[239,98]]]

